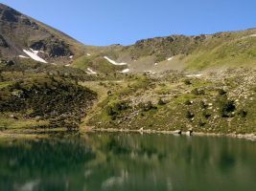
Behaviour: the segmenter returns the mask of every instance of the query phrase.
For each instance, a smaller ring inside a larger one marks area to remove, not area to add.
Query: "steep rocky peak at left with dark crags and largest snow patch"
[[[67,63],[82,52],[80,42],[35,19],[0,4],[0,56]]]

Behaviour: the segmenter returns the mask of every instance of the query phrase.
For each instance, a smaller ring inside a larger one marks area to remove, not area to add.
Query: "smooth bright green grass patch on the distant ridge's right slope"
[[[218,67],[241,67],[256,64],[256,38],[246,37],[223,41],[213,49],[200,50],[185,58],[187,70]]]

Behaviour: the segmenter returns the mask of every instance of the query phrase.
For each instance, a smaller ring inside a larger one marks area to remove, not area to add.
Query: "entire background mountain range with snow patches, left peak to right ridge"
[[[87,74],[218,71],[255,67],[256,29],[198,36],[170,35],[130,46],[85,46],[0,4],[0,56],[69,65]]]

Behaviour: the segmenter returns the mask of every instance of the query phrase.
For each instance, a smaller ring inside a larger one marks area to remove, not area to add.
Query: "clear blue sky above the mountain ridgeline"
[[[256,0],[0,0],[87,45],[256,28]]]

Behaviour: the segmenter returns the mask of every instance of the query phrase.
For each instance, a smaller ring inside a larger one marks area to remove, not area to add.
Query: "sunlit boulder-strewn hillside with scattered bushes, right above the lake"
[[[112,94],[105,95],[87,125],[96,129],[254,133],[255,74],[255,70],[245,69],[201,77],[170,73],[135,77],[118,86],[109,83]]]

